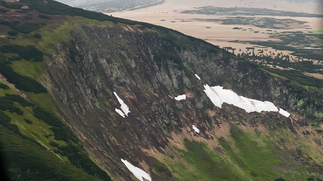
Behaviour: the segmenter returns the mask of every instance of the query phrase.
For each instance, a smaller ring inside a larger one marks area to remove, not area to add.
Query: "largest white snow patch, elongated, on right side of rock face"
[[[219,108],[221,108],[223,103],[228,103],[241,109],[245,109],[246,112],[278,111],[278,108],[271,102],[263,102],[238,96],[232,90],[223,89],[221,86],[210,87],[206,84],[204,85],[204,88],[204,92],[211,99],[213,104]]]

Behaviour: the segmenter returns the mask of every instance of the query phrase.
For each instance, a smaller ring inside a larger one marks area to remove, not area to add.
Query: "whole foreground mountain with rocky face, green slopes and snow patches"
[[[6,179],[323,179],[321,86],[50,0],[2,1],[0,34]],[[206,85],[290,115],[218,106]]]

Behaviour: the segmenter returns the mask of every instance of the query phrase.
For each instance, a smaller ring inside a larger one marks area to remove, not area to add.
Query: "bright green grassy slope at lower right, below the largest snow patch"
[[[298,147],[284,148],[281,138],[286,144],[289,139],[297,139],[294,143]],[[270,133],[247,132],[231,124],[230,137],[220,137],[218,142],[212,148],[203,142],[184,139],[185,149],[175,146],[177,155],[173,152],[159,159],[163,164],[156,164],[155,171],[161,174],[169,170],[175,180],[323,179],[322,167],[306,154],[310,145],[284,129]],[[318,157],[321,157],[319,153]]]

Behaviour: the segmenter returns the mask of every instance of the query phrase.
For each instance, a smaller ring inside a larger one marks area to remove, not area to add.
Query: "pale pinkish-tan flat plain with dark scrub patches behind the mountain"
[[[321,1],[167,0],[156,6],[112,15],[204,39],[258,64],[286,70],[302,66],[302,74],[323,78]],[[279,62],[285,60],[287,64]],[[304,65],[290,65],[301,61],[306,61],[307,70]]]

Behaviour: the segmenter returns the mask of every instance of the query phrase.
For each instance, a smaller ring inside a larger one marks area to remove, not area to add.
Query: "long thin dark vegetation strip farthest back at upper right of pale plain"
[[[291,11],[277,11],[271,9],[260,9],[260,8],[220,8],[220,7],[200,7],[197,10],[188,10],[181,13],[189,14],[216,14],[216,15],[266,15],[266,16],[292,16],[292,17],[323,17],[319,14],[308,14],[308,13],[297,13]]]

